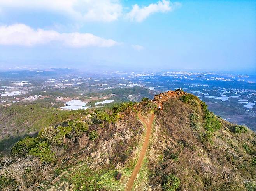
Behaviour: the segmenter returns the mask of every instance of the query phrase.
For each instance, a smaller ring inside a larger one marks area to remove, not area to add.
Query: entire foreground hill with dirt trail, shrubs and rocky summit
[[[17,142],[0,158],[0,189],[256,190],[256,134],[194,95],[169,91],[80,115]]]

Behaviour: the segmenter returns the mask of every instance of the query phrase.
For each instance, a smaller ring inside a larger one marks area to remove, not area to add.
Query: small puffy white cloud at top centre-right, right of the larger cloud
[[[140,8],[139,5],[133,5],[133,9],[126,14],[126,17],[132,21],[142,22],[149,15],[156,12],[168,12],[176,7],[178,3],[171,3],[168,0],[158,1],[157,4],[150,4],[147,7]]]

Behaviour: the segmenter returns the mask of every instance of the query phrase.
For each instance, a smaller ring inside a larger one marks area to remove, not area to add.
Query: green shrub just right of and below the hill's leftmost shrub
[[[37,144],[35,148],[31,148],[28,152],[29,155],[39,157],[42,162],[50,163],[55,160],[55,153],[52,152],[47,142]]]

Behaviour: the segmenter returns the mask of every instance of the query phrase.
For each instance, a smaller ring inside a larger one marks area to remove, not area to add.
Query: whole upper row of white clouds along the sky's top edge
[[[169,0],[139,7],[135,4],[128,13],[119,0],[0,0],[0,10],[18,8],[19,10],[48,11],[63,14],[79,21],[116,21],[126,17],[131,21],[142,22],[149,15],[173,10],[177,3]],[[0,12],[1,13],[1,12]]]

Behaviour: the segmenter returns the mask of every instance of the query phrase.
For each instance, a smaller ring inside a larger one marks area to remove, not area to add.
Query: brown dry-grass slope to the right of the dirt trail
[[[219,119],[222,128],[205,141],[201,101],[194,99],[198,105],[170,99],[156,115],[148,165],[153,190],[161,190],[171,173],[181,180],[179,190],[246,190],[256,178],[255,134],[235,134],[233,124]],[[191,113],[199,115],[198,129],[191,127]]]

